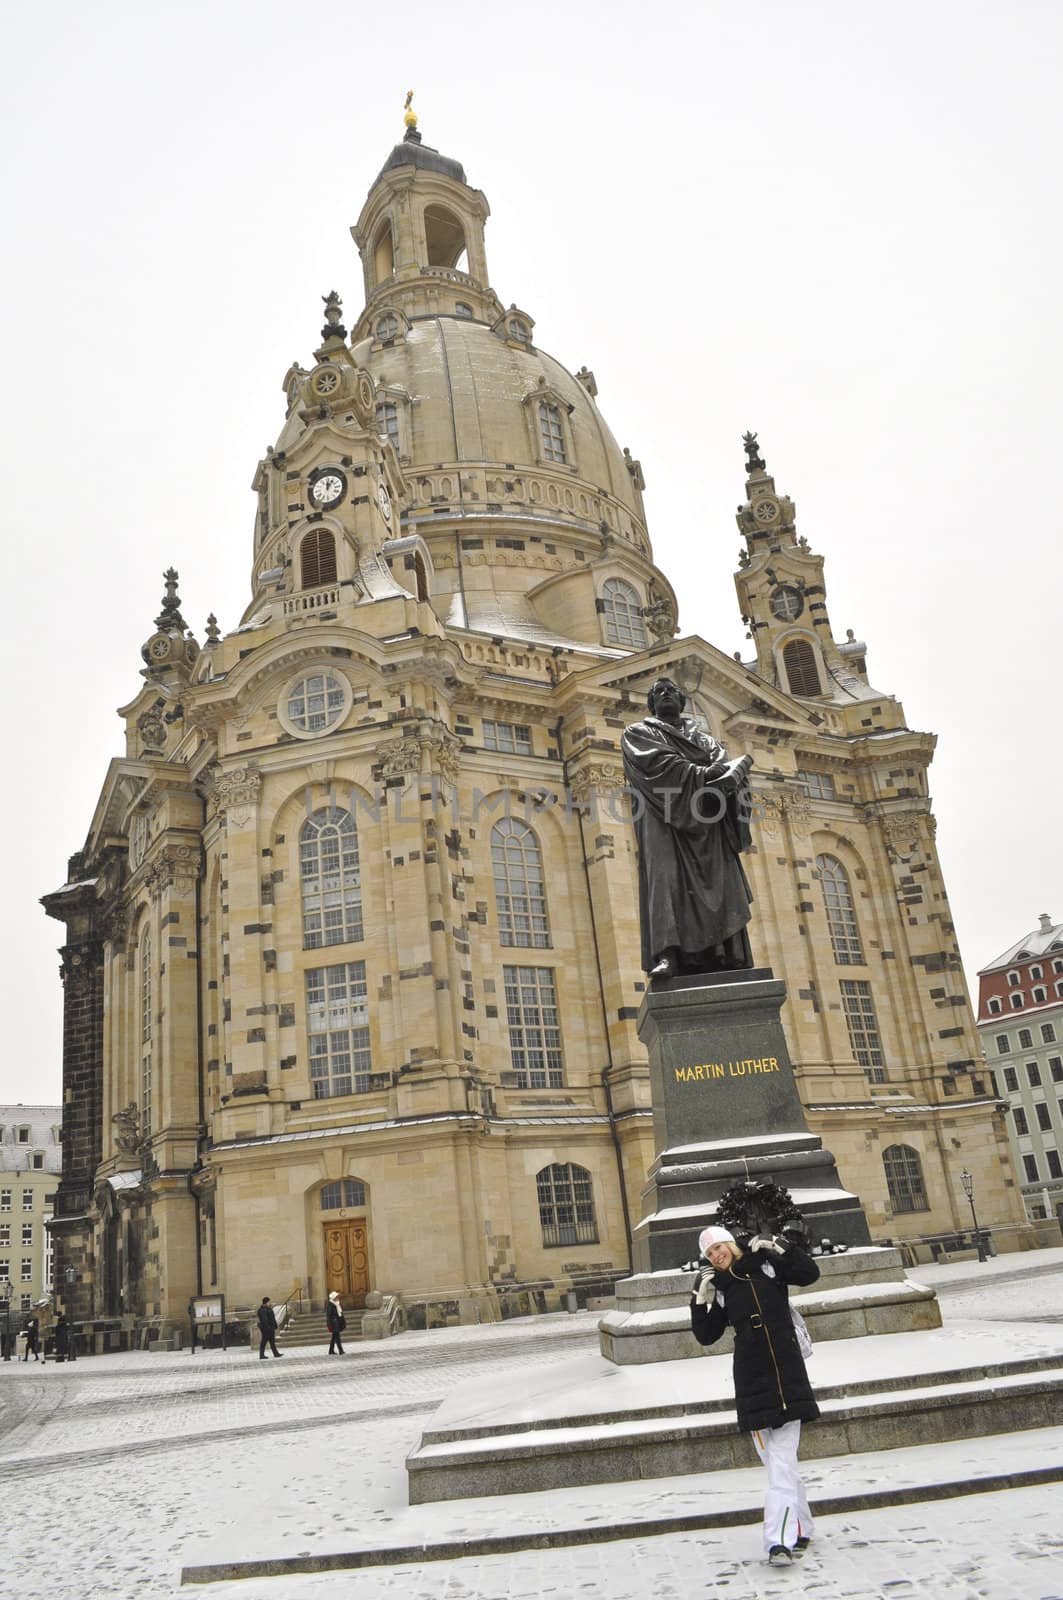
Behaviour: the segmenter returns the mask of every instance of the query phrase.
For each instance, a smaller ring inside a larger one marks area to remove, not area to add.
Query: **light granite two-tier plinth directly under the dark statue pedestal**
[[[820,1256],[820,1282],[791,1290],[794,1306],[816,1339],[860,1339],[879,1333],[916,1333],[941,1326],[938,1298],[905,1277],[900,1250],[871,1245],[840,1256]],[[727,1334],[703,1352],[690,1331],[693,1272],[645,1272],[621,1278],[616,1309],[599,1323],[599,1346],[616,1366],[677,1362],[692,1355],[730,1355]]]

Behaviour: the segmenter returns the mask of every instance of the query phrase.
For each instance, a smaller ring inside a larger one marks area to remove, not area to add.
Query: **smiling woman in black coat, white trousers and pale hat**
[[[789,1310],[789,1285],[815,1283],[820,1269],[800,1245],[754,1235],[740,1246],[725,1227],[706,1227],[698,1240],[711,1270],[695,1280],[690,1325],[698,1344],[716,1344],[735,1330],[735,1402],[738,1427],[748,1432],[768,1470],[764,1549],[773,1566],[804,1555],[813,1525],[797,1469],[800,1424],[820,1406]]]

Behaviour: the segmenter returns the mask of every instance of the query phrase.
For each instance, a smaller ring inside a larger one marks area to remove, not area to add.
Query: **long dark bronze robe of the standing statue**
[[[639,904],[645,971],[666,950],[684,971],[752,966],[749,787],[693,717],[647,717],[624,728],[624,776],[639,840]]]

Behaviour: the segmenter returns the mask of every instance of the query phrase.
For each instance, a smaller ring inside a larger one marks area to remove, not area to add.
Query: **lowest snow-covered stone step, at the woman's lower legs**
[[[1039,1429],[993,1440],[924,1445],[914,1450],[866,1451],[858,1458],[823,1456],[802,1462],[802,1475],[816,1518],[852,1515],[889,1506],[948,1501],[1009,1488],[1063,1482],[1063,1427]],[[764,1469],[701,1472],[570,1488],[559,1494],[499,1494],[461,1507],[461,1536],[455,1538],[450,1504],[397,1510],[387,1546],[357,1546],[347,1536],[314,1554],[287,1557],[259,1550],[255,1558],[186,1566],[183,1584],[211,1584],[237,1578],[296,1576],[319,1571],[357,1571],[456,1562],[483,1555],[517,1555],[536,1549],[578,1549],[626,1539],[751,1526],[764,1515]],[[820,1536],[829,1539],[829,1525]]]

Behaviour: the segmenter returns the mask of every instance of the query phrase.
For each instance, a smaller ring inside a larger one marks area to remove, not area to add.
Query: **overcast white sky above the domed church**
[[[5,19],[11,766],[0,1102],[59,1099],[66,877],[181,571],[248,598],[251,474],[416,88],[491,282],[644,462],[680,627],[744,650],[759,430],[834,630],[940,736],[969,976],[1063,920],[1058,0],[56,0]]]

